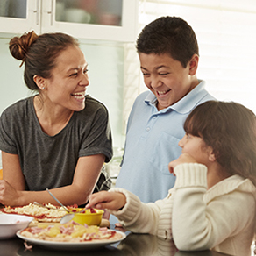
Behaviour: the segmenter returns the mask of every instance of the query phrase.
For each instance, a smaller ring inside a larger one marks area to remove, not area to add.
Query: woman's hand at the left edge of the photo
[[[21,191],[11,187],[7,181],[0,181],[0,203],[16,206],[18,205],[18,198],[21,196],[20,193]]]

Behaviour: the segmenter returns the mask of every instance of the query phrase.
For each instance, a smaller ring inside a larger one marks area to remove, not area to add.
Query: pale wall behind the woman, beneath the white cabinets
[[[9,52],[10,39],[0,34],[0,114],[11,103],[30,96],[23,79],[24,68]],[[81,42],[81,49],[89,63],[88,92],[106,105],[110,113],[113,146],[124,146],[122,134],[124,47],[93,42]]]

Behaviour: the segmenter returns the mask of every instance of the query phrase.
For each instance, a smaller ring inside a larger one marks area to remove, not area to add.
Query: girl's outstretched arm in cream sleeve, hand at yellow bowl
[[[89,196],[87,208],[106,209],[115,215],[119,223],[126,230],[136,233],[150,233],[164,238],[171,238],[171,204],[169,197],[155,203],[141,203],[138,196],[124,188],[111,188]],[[164,216],[161,217],[162,231],[159,231],[160,212],[163,207]]]

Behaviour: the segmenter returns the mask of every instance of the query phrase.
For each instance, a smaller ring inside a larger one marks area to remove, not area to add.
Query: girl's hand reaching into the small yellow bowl
[[[123,193],[100,191],[89,196],[86,208],[119,210],[125,203],[126,197]]]

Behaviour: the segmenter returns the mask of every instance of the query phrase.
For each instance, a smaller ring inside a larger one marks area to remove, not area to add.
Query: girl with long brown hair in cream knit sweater
[[[133,232],[174,239],[179,250],[213,249],[250,256],[256,225],[256,118],[238,103],[209,101],[193,110],[169,163],[168,196],[141,203],[123,188],[91,195],[87,207],[108,209]],[[154,189],[154,188],[153,188]]]

